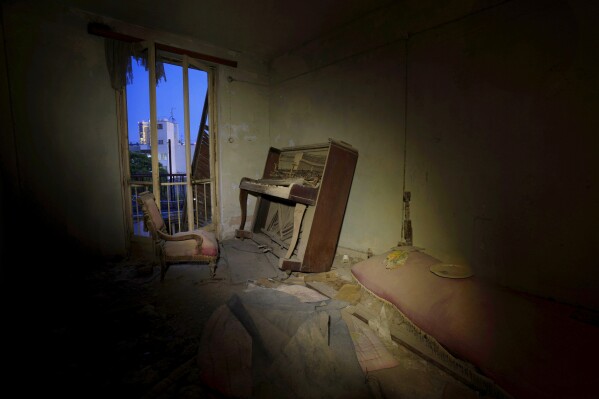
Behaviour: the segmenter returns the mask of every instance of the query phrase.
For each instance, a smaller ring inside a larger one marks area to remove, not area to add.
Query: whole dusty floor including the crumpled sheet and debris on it
[[[356,289],[353,257],[325,273],[285,273],[249,241],[222,245],[215,277],[181,264],[161,282],[156,265],[127,260],[44,281],[35,318],[25,315],[35,325],[22,359],[51,362],[36,381],[67,396],[144,399],[471,397],[369,323],[384,317]]]

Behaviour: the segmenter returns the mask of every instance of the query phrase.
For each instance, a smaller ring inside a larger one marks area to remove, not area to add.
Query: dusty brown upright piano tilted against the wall
[[[333,139],[271,147],[262,179],[241,179],[241,224],[235,236],[272,251],[282,270],[329,271],[357,160],[355,148]],[[248,194],[257,199],[252,226],[245,230]]]

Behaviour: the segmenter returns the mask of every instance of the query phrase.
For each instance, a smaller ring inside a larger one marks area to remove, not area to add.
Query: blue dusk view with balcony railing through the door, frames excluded
[[[193,228],[211,223],[209,128],[207,125],[208,73],[189,69],[190,143],[185,142],[183,68],[164,63],[166,79],[156,87],[157,142],[150,137],[149,73],[132,61],[133,82],[127,86],[129,159],[134,234],[143,231],[137,194],[152,191],[151,146],[158,153],[160,211],[171,234],[188,229],[186,145],[192,170]],[[202,125],[202,120],[204,124]],[[203,127],[202,127],[203,126]]]

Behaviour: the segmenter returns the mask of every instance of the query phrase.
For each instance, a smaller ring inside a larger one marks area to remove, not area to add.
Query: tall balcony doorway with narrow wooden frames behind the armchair
[[[143,248],[151,242],[137,204],[143,191],[154,193],[171,234],[215,225],[213,70],[187,56],[160,51],[153,55],[156,67],[147,62],[147,70],[132,59],[133,80],[127,85],[123,113],[126,224],[132,253],[139,244]],[[164,70],[164,76],[152,82],[156,70]]]

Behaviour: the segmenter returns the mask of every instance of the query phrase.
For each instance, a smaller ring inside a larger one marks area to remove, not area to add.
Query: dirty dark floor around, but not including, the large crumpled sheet
[[[9,375],[20,394],[220,398],[200,380],[197,362],[203,327],[220,305],[249,287],[281,284],[356,303],[350,269],[359,260],[339,256],[327,273],[288,274],[251,240],[232,239],[221,242],[214,278],[207,265],[179,264],[163,282],[158,266],[141,261],[70,260],[79,267],[68,278],[63,271],[37,281],[29,287],[34,303],[15,312]],[[373,398],[480,397],[405,347],[381,342],[397,365],[364,376]]]

